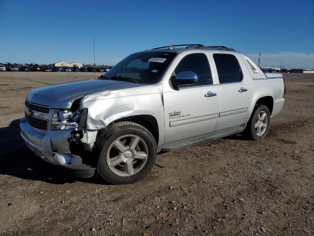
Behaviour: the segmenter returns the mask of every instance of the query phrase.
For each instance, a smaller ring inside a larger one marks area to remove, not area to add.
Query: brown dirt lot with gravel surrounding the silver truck
[[[96,75],[97,76],[97,75]],[[314,235],[314,74],[285,74],[266,139],[159,154],[131,185],[67,177],[22,142],[33,88],[84,72],[0,72],[0,235]]]

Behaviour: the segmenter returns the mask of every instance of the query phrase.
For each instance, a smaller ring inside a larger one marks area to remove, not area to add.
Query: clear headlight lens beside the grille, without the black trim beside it
[[[71,112],[70,110],[55,110],[52,114],[53,130],[78,130],[80,111]]]

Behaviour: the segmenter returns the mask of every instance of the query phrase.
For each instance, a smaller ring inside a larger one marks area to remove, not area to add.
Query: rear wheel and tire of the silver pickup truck
[[[246,134],[250,139],[261,140],[266,137],[270,127],[270,112],[267,106],[257,104],[247,123]]]

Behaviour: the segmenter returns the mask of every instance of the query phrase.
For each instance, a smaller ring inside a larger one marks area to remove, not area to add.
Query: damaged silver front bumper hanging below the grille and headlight
[[[43,160],[75,171],[93,172],[96,170],[95,167],[83,164],[80,156],[71,153],[67,140],[70,130],[41,132],[32,128],[26,122],[25,117],[20,121],[20,128],[27,147]]]

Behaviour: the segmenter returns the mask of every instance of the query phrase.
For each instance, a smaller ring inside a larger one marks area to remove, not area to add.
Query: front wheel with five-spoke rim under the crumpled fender
[[[133,122],[113,124],[104,135],[98,173],[111,184],[128,184],[146,177],[152,170],[157,145],[153,135]]]

